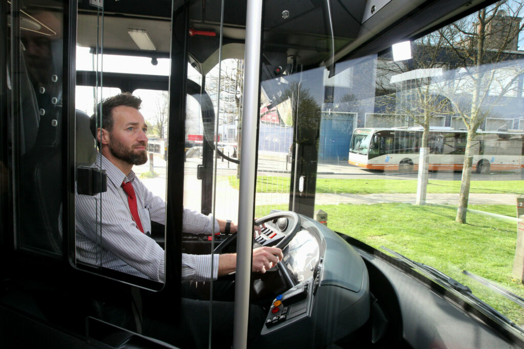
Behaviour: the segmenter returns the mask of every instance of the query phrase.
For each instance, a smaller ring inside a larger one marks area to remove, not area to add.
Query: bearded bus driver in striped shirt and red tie
[[[138,110],[140,104],[140,98],[122,93],[103,100],[99,105],[102,127],[97,128],[95,116],[91,117],[91,131],[101,153],[93,167],[106,171],[107,191],[100,196],[75,196],[76,254],[78,260],[85,263],[163,282],[164,250],[150,238],[148,232],[151,220],[165,223],[166,203],[153,195],[132,171],[133,165],[147,161],[147,124]],[[237,227],[231,221],[213,219],[184,209],[182,230],[212,234],[227,230],[236,232]],[[259,247],[253,250],[253,272],[265,273],[281,259],[280,249]],[[216,279],[235,271],[235,267],[235,254],[182,254],[183,280],[201,282],[211,277]],[[213,345],[229,347],[233,335],[232,283],[224,283],[228,287],[219,288],[222,296],[219,292],[215,293],[215,285],[221,283],[213,283],[212,319],[209,317],[209,302],[198,300],[201,297],[198,295],[193,297],[194,283],[185,282],[182,284],[182,294],[186,298],[182,298],[181,302],[181,328],[173,330],[168,324],[146,317],[143,333],[175,345],[208,347],[208,331],[211,329]],[[223,301],[215,301],[217,298]],[[106,321],[123,327],[129,325],[132,316],[123,310],[125,307],[107,303],[104,307],[105,313],[110,314]],[[260,334],[265,315],[262,308],[251,306],[250,341]]]

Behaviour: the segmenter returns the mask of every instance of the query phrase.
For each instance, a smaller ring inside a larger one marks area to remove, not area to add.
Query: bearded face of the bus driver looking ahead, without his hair
[[[108,149],[116,159],[132,165],[147,162],[147,125],[135,108],[113,108],[113,129],[109,132]]]

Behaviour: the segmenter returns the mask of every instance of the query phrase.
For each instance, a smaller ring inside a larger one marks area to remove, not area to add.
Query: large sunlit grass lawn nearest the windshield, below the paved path
[[[507,210],[501,206],[499,212]],[[509,205],[508,205],[509,206]],[[514,206],[511,206],[515,209]],[[287,205],[271,208],[287,210]],[[477,207],[478,209],[480,207]],[[269,207],[257,207],[258,217]],[[524,297],[524,285],[511,277],[517,240],[517,224],[467,213],[467,224],[455,222],[456,207],[410,204],[318,205],[328,212],[328,227],[380,249],[384,245],[412,260],[431,265],[469,286],[479,298],[517,323],[524,323],[524,310],[494,295],[465,269]]]

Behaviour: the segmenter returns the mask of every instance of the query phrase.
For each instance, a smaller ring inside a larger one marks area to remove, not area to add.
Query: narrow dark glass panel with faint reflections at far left
[[[8,2],[10,52],[7,64],[15,193],[16,246],[62,253],[62,110],[64,4]],[[32,212],[31,219],[24,219]]]

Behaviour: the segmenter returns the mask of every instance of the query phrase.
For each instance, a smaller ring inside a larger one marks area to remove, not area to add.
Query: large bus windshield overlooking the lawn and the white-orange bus
[[[524,36],[514,25],[523,4],[490,5],[413,40],[405,60],[388,49],[331,67],[326,50],[320,67],[297,67],[288,55],[282,75],[263,73],[256,215],[322,210],[330,229],[433,266],[524,323],[520,306],[462,273],[524,296],[524,211],[516,209],[524,195]],[[479,42],[482,57],[471,54]],[[332,44],[344,46],[336,36]],[[375,128],[388,132],[374,137]]]

